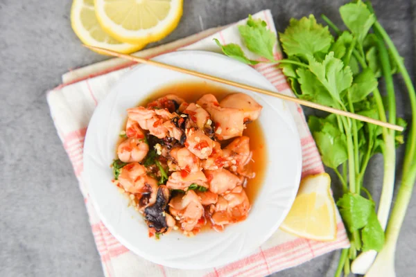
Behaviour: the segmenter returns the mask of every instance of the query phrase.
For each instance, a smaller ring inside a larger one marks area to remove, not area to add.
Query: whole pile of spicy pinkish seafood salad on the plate
[[[245,187],[256,172],[243,132],[261,109],[232,93],[219,102],[213,94],[196,102],[167,94],[127,110],[113,182],[144,215],[150,237],[171,230],[193,236],[205,226],[223,231],[245,220]]]

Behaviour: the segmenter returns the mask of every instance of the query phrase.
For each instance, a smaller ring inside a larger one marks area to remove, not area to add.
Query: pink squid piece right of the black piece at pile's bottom
[[[173,217],[180,221],[183,231],[192,231],[204,213],[200,197],[193,190],[184,196],[177,195],[169,202],[169,211]]]

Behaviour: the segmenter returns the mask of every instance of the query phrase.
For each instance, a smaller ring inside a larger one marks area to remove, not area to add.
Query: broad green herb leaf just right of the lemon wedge
[[[374,203],[361,195],[346,193],[337,202],[340,213],[349,231],[353,232],[367,225],[374,211]]]

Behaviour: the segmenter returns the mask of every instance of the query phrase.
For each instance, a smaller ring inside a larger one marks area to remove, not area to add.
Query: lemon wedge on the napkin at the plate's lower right
[[[330,186],[331,177],[327,173],[303,179],[280,229],[311,240],[335,240],[335,203]]]

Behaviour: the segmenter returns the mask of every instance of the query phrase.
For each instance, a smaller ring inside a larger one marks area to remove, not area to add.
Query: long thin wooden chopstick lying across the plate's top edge
[[[372,123],[374,125],[379,125],[381,127],[394,129],[394,130],[399,131],[399,132],[403,132],[403,130],[404,130],[404,127],[401,127],[399,125],[394,125],[394,124],[391,124],[391,123],[383,122],[383,121],[376,120],[374,118],[370,118],[370,117],[367,117],[367,116],[361,116],[360,114],[353,114],[349,111],[343,111],[343,110],[340,110],[340,109],[335,109],[333,107],[327,107],[327,106],[320,105],[320,104],[310,102],[310,101],[307,101],[307,100],[302,100],[302,99],[299,99],[299,98],[295,98],[293,96],[286,96],[284,94],[277,93],[277,92],[274,92],[274,91],[268,91],[266,89],[259,89],[257,87],[249,86],[248,84],[241,84],[241,83],[238,83],[238,82],[233,82],[233,81],[230,81],[230,80],[215,77],[215,76],[208,75],[208,74],[205,74],[205,73],[200,73],[198,71],[193,71],[193,70],[189,70],[189,69],[182,69],[181,67],[177,67],[177,66],[173,66],[173,65],[169,65],[169,64],[163,64],[162,62],[155,62],[153,60],[147,60],[147,59],[144,59],[144,58],[141,58],[141,57],[135,57],[133,55],[123,54],[123,53],[119,53],[119,52],[108,50],[108,49],[101,48],[101,47],[89,46],[89,45],[85,45],[85,44],[84,44],[84,46],[87,47],[87,48],[93,49],[93,50],[97,50],[101,53],[105,53],[105,54],[108,54],[108,55],[115,56],[115,57],[123,57],[127,60],[132,60],[134,62],[139,62],[141,64],[149,64],[149,65],[153,65],[153,66],[159,66],[159,67],[162,67],[164,69],[170,69],[170,70],[173,70],[173,71],[193,75],[193,76],[200,77],[200,78],[207,79],[207,80],[211,80],[211,81],[214,81],[214,82],[220,82],[222,84],[228,84],[228,85],[233,86],[233,87],[239,87],[241,89],[247,89],[247,90],[250,90],[250,91],[255,91],[255,92],[258,92],[258,93],[266,94],[268,96],[273,96],[273,97],[277,97],[277,98],[280,98],[280,99],[283,99],[283,100],[288,100],[288,101],[291,101],[291,102],[295,102],[297,104],[300,104],[300,105],[303,105],[303,106],[306,106],[306,107],[311,107],[311,108],[314,108],[314,109],[320,109],[321,111],[328,111],[332,114],[338,114],[340,116],[346,116],[346,117],[349,117],[349,118],[354,118],[356,120],[361,120],[361,121],[364,121],[364,122],[367,122],[367,123]]]

